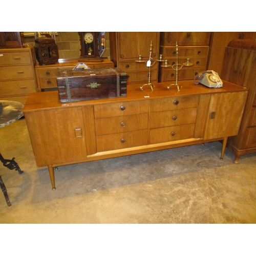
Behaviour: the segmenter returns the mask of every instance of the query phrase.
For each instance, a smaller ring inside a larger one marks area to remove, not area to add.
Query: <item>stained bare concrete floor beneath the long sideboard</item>
[[[234,164],[221,143],[60,166],[56,190],[36,167],[26,120],[0,129],[12,203],[0,191],[0,223],[256,223],[256,154]]]

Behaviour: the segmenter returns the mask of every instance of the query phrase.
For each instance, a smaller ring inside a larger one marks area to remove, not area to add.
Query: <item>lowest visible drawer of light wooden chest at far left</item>
[[[28,95],[36,92],[35,80],[18,80],[0,82],[2,96]]]

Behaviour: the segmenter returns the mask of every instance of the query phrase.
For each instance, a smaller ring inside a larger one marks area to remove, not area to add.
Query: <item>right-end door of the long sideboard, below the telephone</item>
[[[238,134],[247,92],[212,94],[204,139],[217,139]]]

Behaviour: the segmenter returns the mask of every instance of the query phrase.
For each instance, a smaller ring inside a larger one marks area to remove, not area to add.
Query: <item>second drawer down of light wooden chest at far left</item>
[[[0,81],[34,78],[33,66],[1,67]]]

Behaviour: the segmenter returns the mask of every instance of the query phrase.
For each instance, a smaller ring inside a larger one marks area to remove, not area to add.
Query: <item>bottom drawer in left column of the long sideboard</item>
[[[96,143],[97,152],[146,145],[147,130],[97,136]]]

